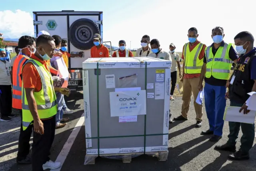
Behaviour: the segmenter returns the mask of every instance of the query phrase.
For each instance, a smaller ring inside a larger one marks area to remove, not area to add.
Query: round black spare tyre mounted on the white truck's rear
[[[94,46],[93,35],[100,34],[97,24],[87,18],[74,21],[68,30],[68,39],[80,50],[88,50]]]

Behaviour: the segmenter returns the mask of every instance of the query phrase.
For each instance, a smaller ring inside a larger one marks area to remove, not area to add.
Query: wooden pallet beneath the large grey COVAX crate
[[[124,153],[124,154],[101,154],[100,157],[115,157],[117,156],[116,158],[119,158],[119,159],[122,159],[123,163],[130,163],[132,161],[132,158],[133,157],[136,157],[138,155],[143,155],[144,153]],[[158,158],[158,161],[166,161],[167,158],[168,158],[168,151],[156,151],[156,152],[146,152],[146,155],[152,155],[152,157],[157,157]],[[88,164],[91,164],[91,165],[94,165],[95,164],[95,159],[96,157],[98,157],[98,155],[86,155],[86,157],[92,157],[93,160],[90,161],[90,163]]]

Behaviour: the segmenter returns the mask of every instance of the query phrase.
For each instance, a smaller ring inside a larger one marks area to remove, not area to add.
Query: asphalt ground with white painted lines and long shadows
[[[60,171],[256,171],[256,141],[254,141],[254,146],[250,151],[250,160],[229,161],[227,159],[229,152],[214,150],[215,145],[223,144],[228,140],[228,122],[224,124],[222,139],[217,143],[209,142],[210,136],[200,135],[202,130],[208,129],[205,109],[202,127],[195,128],[196,114],[192,102],[189,120],[170,124],[168,161],[158,161],[156,157],[148,155],[135,157],[131,163],[98,157],[95,165],[84,165],[86,154],[84,124],[81,127],[75,127],[80,122],[79,119],[83,113],[82,92],[73,92],[66,99],[66,104],[68,108],[76,112],[72,115],[64,115],[70,117],[70,122],[66,127],[56,130],[51,149],[53,161],[59,154],[62,159],[67,154]],[[180,115],[181,105],[181,97],[170,101],[172,117]],[[31,171],[31,165],[16,164],[19,129],[19,116],[10,122],[0,122],[0,171]],[[72,131],[77,131],[78,134],[76,137],[69,138]],[[241,135],[240,131],[237,148],[240,146]],[[71,147],[70,151],[66,147]]]

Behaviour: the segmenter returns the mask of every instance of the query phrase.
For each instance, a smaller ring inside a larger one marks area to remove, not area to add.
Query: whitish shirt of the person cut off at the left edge
[[[11,65],[8,61],[0,61],[0,85],[12,85]]]

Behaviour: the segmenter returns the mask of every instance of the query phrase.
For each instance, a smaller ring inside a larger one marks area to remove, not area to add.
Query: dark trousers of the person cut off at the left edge
[[[12,85],[0,85],[0,112],[1,117],[12,113]]]

